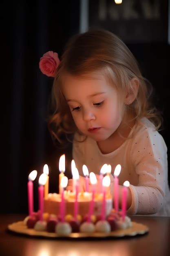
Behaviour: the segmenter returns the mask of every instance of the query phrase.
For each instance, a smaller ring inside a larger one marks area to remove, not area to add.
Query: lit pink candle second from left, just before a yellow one
[[[44,213],[44,185],[46,183],[47,175],[42,173],[39,177],[38,183],[38,195],[39,195],[39,211],[40,211],[40,221],[43,220],[43,213]]]

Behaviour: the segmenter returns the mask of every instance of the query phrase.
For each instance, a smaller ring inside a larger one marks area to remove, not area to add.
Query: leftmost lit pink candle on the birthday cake
[[[37,171],[31,171],[29,174],[29,181],[27,184],[27,189],[28,189],[28,209],[29,209],[29,216],[33,214],[33,181],[37,177]]]

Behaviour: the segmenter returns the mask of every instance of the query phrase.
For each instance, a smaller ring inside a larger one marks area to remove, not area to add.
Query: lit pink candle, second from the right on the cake
[[[119,208],[119,179],[118,176],[121,171],[121,165],[117,164],[115,171],[113,173],[114,175],[114,206],[115,206],[115,211],[118,211]]]

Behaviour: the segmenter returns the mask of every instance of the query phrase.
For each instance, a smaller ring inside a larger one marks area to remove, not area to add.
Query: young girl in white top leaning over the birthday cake
[[[112,174],[120,164],[119,206],[128,180],[127,213],[170,216],[167,147],[157,131],[161,119],[126,45],[109,31],[88,31],[71,38],[61,62],[56,53],[44,54],[40,69],[55,77],[49,127],[60,142],[64,133],[74,134],[79,174],[84,176],[83,164],[97,175],[103,164],[111,165]]]

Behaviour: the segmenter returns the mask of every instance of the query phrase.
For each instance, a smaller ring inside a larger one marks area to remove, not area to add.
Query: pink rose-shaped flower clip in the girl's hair
[[[55,77],[57,72],[57,67],[60,64],[60,59],[58,58],[58,54],[53,51],[46,52],[41,58],[39,62],[39,67],[42,74],[46,76]]]

